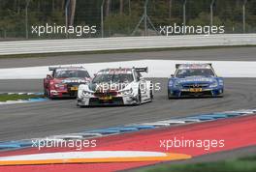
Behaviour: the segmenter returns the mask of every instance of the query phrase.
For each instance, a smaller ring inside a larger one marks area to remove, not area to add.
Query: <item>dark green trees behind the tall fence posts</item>
[[[69,24],[97,25],[97,28],[101,27],[103,5],[106,36],[130,35],[144,14],[145,0],[0,0],[0,37],[25,36],[26,9],[29,26],[46,22],[65,25],[65,6],[68,1]],[[211,1],[187,0],[187,23],[209,24]],[[215,0],[213,23],[226,25],[227,32],[240,33],[243,3],[244,0]],[[256,1],[247,0],[245,7],[246,30],[256,32]],[[183,22],[183,0],[148,0],[146,9],[156,27]]]

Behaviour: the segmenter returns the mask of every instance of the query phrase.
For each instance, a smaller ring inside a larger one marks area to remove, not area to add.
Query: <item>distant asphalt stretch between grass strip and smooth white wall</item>
[[[80,63],[115,62],[144,59],[159,60],[218,60],[218,61],[255,61],[256,46],[225,47],[210,49],[188,49],[169,51],[148,51],[129,53],[61,55],[37,58],[1,58],[0,69],[21,68],[48,65],[65,65]]]

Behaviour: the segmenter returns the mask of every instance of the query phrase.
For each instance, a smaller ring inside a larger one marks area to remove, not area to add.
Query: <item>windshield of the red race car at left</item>
[[[86,71],[55,71],[53,74],[55,78],[68,78],[68,77],[90,77]]]

